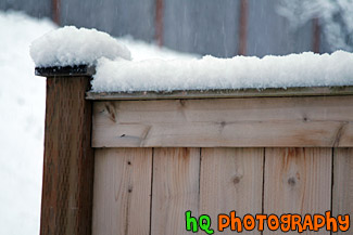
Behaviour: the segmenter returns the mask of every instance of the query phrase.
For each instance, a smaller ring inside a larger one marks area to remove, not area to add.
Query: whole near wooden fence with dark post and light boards
[[[48,77],[41,234],[192,234],[188,210],[215,234],[236,233],[216,230],[232,210],[353,212],[352,87],[85,93],[92,73],[37,69]]]

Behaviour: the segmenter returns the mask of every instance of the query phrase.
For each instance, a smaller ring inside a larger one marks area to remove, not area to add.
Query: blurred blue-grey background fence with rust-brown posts
[[[315,22],[295,30],[279,0],[1,0],[1,10],[49,17],[198,54],[231,57],[330,52]]]

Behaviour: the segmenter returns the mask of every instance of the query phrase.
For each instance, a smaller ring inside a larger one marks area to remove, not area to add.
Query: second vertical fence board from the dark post
[[[154,148],[152,235],[190,234],[185,212],[199,211],[200,148]]]

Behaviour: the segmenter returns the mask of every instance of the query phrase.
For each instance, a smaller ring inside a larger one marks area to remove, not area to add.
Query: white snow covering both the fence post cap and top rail
[[[131,43],[133,53],[121,42]],[[137,52],[137,53],[136,53]],[[161,54],[157,54],[161,53]],[[154,58],[151,58],[151,54]],[[157,58],[161,55],[164,58]],[[285,56],[216,58],[144,47],[96,29],[66,26],[30,47],[36,66],[96,65],[94,92],[266,89],[353,84],[353,54],[304,52]]]

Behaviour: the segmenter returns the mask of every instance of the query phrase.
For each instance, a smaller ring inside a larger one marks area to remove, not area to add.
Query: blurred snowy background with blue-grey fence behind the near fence
[[[353,51],[352,0],[0,0],[0,234],[39,234],[46,79],[28,51],[63,25],[119,37],[134,60]]]

